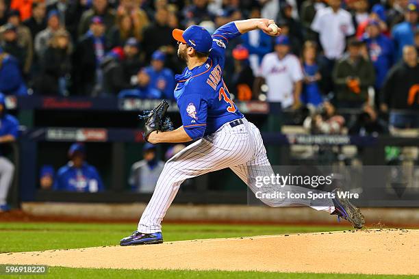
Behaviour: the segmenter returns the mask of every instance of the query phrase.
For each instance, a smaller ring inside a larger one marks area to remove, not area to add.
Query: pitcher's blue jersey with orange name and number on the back
[[[207,61],[192,70],[186,67],[175,77],[175,98],[183,128],[192,139],[214,133],[223,124],[244,117],[231,101],[223,81],[225,49],[229,40],[240,35],[234,23],[218,28],[212,35]]]

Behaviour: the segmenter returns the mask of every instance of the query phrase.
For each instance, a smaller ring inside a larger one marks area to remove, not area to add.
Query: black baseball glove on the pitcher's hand
[[[165,117],[168,107],[169,103],[166,100],[163,100],[154,109],[143,111],[143,113],[139,115],[140,119],[144,120],[143,135],[146,142],[148,142],[147,139],[153,131],[157,131],[157,133],[159,131],[173,131],[172,121],[170,118]]]

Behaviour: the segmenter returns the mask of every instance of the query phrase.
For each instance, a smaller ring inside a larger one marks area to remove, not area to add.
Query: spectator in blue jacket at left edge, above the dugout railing
[[[23,81],[19,63],[0,47],[0,91],[6,95],[25,95],[27,88]]]

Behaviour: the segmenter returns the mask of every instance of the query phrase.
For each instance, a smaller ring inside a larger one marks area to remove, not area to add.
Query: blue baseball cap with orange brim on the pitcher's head
[[[188,44],[188,46],[193,47],[201,53],[209,53],[212,47],[210,32],[198,25],[191,25],[185,31],[173,29],[172,36],[178,42]]]

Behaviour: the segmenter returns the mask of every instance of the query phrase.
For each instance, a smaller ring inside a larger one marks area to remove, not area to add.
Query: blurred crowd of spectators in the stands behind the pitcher
[[[418,111],[418,12],[417,0],[0,0],[0,91],[173,98],[174,28],[267,17],[281,36],[229,42],[224,78],[239,100]]]

